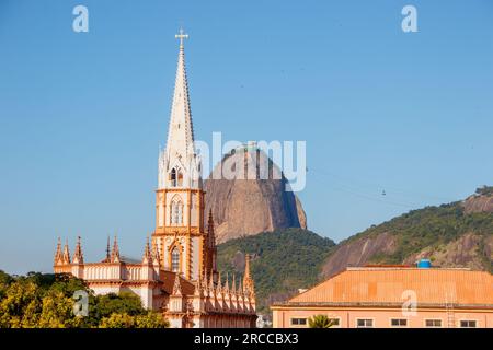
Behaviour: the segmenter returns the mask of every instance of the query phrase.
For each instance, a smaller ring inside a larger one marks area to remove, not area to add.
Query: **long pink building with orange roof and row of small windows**
[[[451,268],[358,267],[274,304],[275,328],[493,328],[493,276]]]

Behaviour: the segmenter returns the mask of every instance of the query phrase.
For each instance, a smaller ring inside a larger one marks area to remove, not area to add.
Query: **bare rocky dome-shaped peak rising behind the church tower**
[[[297,196],[286,190],[287,179],[277,165],[256,148],[239,148],[227,154],[206,179],[206,208],[213,210],[217,242],[307,228]]]

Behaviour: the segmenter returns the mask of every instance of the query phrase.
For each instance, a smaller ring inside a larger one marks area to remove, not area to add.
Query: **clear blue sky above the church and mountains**
[[[314,232],[493,184],[492,1],[0,0],[0,269],[50,271],[57,236],[141,256],[180,25],[196,138],[306,140]]]

